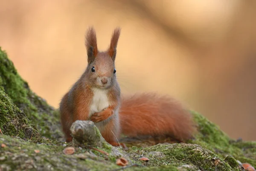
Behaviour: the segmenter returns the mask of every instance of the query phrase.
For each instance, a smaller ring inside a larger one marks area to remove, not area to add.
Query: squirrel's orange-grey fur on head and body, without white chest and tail
[[[111,49],[116,52],[119,29],[113,33],[111,40]],[[113,145],[116,143],[115,135],[119,135],[119,97],[120,87],[116,81],[114,70],[114,58],[110,56],[109,51],[98,52],[96,32],[93,27],[87,30],[85,46],[87,48],[88,65],[79,80],[72,86],[61,99],[60,115],[62,130],[67,142],[72,141],[70,127],[76,120],[92,120],[99,128],[103,138],[107,139]],[[95,72],[92,72],[92,67]],[[98,78],[109,78],[109,85],[104,87]],[[103,86],[103,87],[102,87]],[[102,111],[91,113],[91,103],[93,100],[93,88],[108,90],[107,98],[109,106]],[[91,115],[91,116],[90,116]],[[113,134],[113,133],[114,134]]]

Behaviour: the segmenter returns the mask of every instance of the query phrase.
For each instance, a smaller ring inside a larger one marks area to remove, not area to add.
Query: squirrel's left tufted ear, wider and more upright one
[[[93,26],[87,29],[87,33],[85,35],[85,46],[87,49],[87,56],[88,56],[87,61],[88,61],[88,64],[90,64],[91,62],[94,61],[98,53],[96,32]]]

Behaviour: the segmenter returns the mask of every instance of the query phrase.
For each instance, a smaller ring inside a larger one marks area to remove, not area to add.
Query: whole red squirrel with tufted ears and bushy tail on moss
[[[61,126],[67,142],[76,120],[94,122],[103,138],[118,146],[121,133],[126,136],[173,136],[183,142],[195,131],[191,114],[169,96],[141,93],[121,98],[116,80],[116,46],[120,28],[114,29],[110,46],[99,51],[96,32],[87,30],[87,68],[60,102]],[[122,146],[125,146],[122,144]]]

